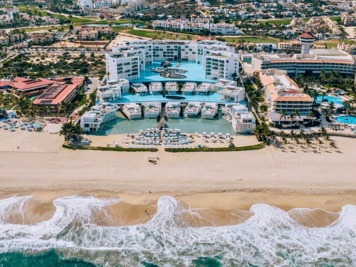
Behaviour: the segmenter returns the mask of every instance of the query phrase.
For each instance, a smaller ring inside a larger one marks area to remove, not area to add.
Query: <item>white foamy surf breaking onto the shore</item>
[[[255,204],[249,212],[226,211],[228,225],[221,225],[214,218],[216,211],[192,209],[188,203],[163,196],[147,222],[114,226],[108,208],[120,204],[121,198],[73,195],[53,201],[50,219],[28,225],[23,207],[31,198],[0,199],[2,255],[33,256],[54,250],[65,259],[97,266],[191,266],[201,259],[214,259],[223,266],[353,266],[356,262],[354,205],[333,213],[286,212]],[[11,215],[17,223],[11,222]],[[321,222],[324,227],[318,227]]]

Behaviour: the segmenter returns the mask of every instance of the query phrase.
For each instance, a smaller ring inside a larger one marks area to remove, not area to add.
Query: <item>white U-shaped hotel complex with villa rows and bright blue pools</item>
[[[98,88],[98,103],[112,103],[116,107],[112,112],[117,112],[119,117],[123,116],[120,114],[122,112],[125,118],[133,120],[133,124],[137,120],[142,124],[142,120],[145,120],[155,124],[149,126],[152,129],[158,124],[150,119],[160,117],[163,120],[166,117],[168,126],[173,122],[178,123],[182,120],[180,118],[186,118],[190,123],[192,120],[206,120],[199,123],[204,126],[214,124],[219,117],[220,122],[216,124],[224,124],[226,128],[221,129],[224,132],[251,132],[255,125],[248,118],[239,119],[241,112],[234,114],[235,119],[232,119],[232,115],[231,119],[221,117],[224,108],[241,105],[247,109],[245,88],[237,86],[237,83],[242,84],[238,75],[239,54],[226,42],[124,41],[123,45],[113,47],[112,52],[106,53],[106,71],[107,81],[104,79],[103,85]],[[90,112],[85,112],[83,120],[94,116]],[[100,115],[104,110],[98,112]],[[247,110],[244,114],[251,112]],[[116,116],[110,118],[115,119]],[[89,120],[98,123],[95,127],[84,127],[83,124],[84,131],[103,128],[103,120]],[[251,122],[248,127],[244,126],[247,125],[246,121]],[[131,122],[125,125],[127,123]],[[220,132],[217,129],[215,131]]]

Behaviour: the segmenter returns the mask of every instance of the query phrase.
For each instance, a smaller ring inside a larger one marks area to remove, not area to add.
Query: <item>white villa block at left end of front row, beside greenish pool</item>
[[[117,105],[105,102],[92,106],[80,118],[79,125],[84,132],[99,132],[105,122],[116,117],[116,109]]]

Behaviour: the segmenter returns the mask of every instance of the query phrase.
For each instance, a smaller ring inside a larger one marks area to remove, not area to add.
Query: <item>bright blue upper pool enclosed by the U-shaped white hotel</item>
[[[205,72],[203,70],[202,64],[197,64],[196,61],[182,61],[179,68],[184,68],[188,70],[187,73],[183,73],[183,75],[187,76],[187,78],[183,79],[173,79],[166,78],[160,76],[158,73],[152,72],[151,69],[157,68],[160,66],[162,61],[153,62],[152,64],[147,64],[145,66],[145,70],[140,70],[140,78],[130,80],[130,83],[136,82],[162,82],[162,81],[195,81],[195,82],[210,82],[216,83],[216,80],[205,79]],[[172,67],[177,67],[178,61],[170,61],[172,63]],[[231,77],[227,77],[227,79],[231,79]]]

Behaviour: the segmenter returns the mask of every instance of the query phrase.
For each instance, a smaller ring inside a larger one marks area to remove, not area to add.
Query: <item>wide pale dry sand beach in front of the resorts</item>
[[[115,138],[90,137],[104,145]],[[282,150],[272,145],[214,153],[169,153],[162,148],[158,152],[73,151],[61,147],[63,137],[58,134],[1,129],[1,191],[354,193],[355,139],[332,139],[337,148],[331,151]],[[257,141],[254,136],[235,136],[234,143],[244,146]],[[147,157],[160,160],[153,165]]]

